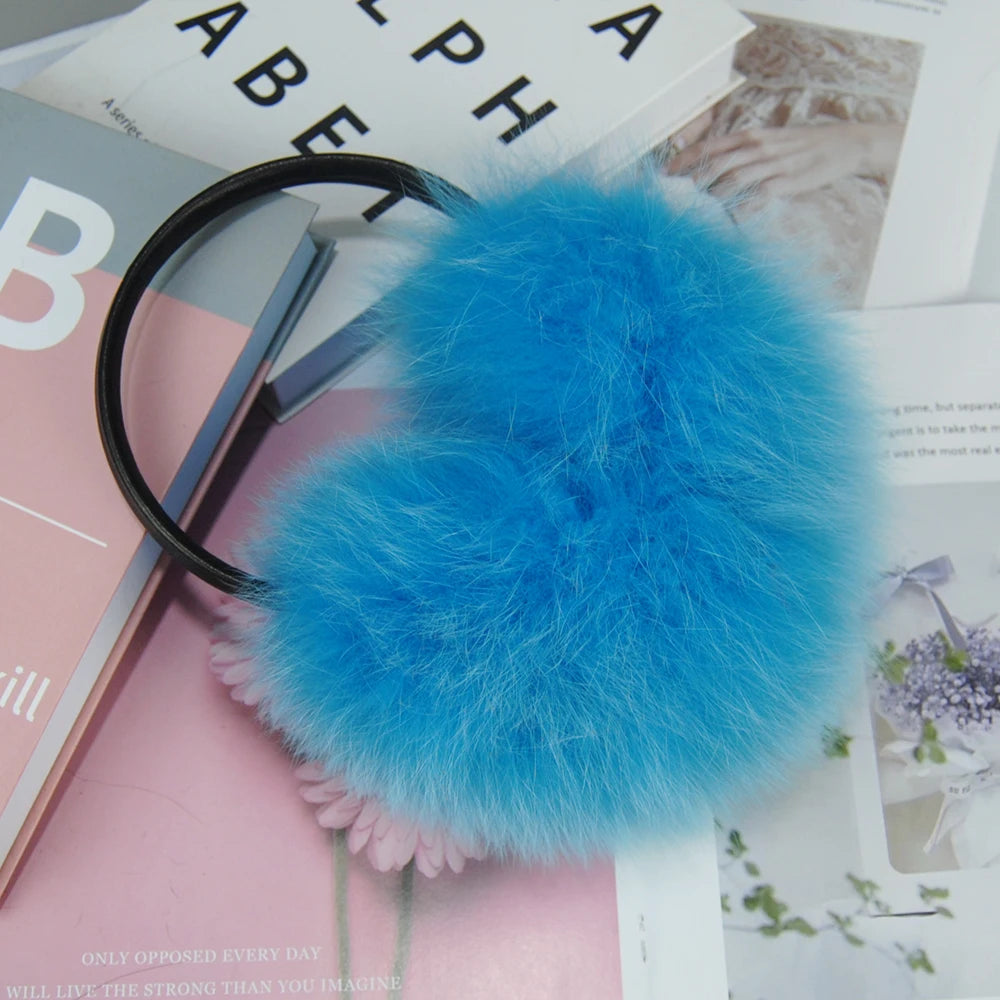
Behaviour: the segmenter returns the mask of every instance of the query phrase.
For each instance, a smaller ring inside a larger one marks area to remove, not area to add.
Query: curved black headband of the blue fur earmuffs
[[[157,272],[188,240],[232,208],[304,184],[353,184],[413,198],[439,211],[471,198],[425,171],[379,156],[324,153],[271,160],[237,171],[182,205],[146,242],[129,265],[108,310],[97,353],[97,422],[115,480],[146,530],[185,569],[228,594],[258,595],[264,580],[230,565],[200,546],[163,509],[135,460],[122,412],[122,359],[139,300]]]

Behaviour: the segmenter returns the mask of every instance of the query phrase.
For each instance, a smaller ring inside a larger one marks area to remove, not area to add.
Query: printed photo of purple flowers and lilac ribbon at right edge
[[[895,493],[868,696],[902,873],[1000,866],[1000,484]]]

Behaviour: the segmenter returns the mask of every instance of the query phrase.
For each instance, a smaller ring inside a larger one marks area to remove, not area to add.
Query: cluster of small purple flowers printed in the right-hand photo
[[[902,653],[887,647],[879,654],[875,702],[897,732],[916,735],[940,720],[982,732],[1000,720],[1000,635],[973,628],[966,643],[960,653],[934,632],[912,639]]]

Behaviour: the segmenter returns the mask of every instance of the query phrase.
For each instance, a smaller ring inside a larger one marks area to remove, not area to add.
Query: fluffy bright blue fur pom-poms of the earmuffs
[[[248,546],[294,751],[531,860],[811,757],[872,568],[844,331],[648,178],[460,211],[384,315],[407,416],[300,471]]]

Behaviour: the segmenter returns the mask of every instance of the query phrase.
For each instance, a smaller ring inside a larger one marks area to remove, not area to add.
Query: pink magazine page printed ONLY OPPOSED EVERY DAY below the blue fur
[[[328,393],[223,469],[228,552],[310,446],[370,429]],[[211,503],[211,497],[209,503]],[[0,910],[0,989],[49,998],[621,996],[611,861],[380,874],[315,821],[293,762],[208,669],[218,598],[172,572],[120,690]]]

